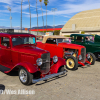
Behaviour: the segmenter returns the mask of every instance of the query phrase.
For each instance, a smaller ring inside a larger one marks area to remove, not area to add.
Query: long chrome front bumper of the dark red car
[[[40,79],[33,79],[32,80],[32,83],[37,83],[39,81],[44,81],[44,80],[47,80],[47,79],[50,79],[50,78],[53,78],[53,77],[56,77],[56,76],[59,76],[59,75],[63,75],[65,74],[67,71],[63,71],[63,72],[59,72],[59,73],[56,73],[56,74],[50,74],[50,75],[46,75],[45,77],[43,78],[40,78]]]

